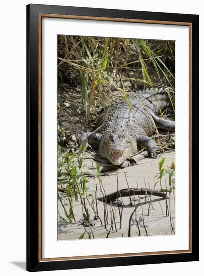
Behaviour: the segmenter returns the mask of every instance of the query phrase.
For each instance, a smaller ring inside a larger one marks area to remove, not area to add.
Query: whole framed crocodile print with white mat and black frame
[[[27,6],[27,270],[198,260],[198,15]]]

